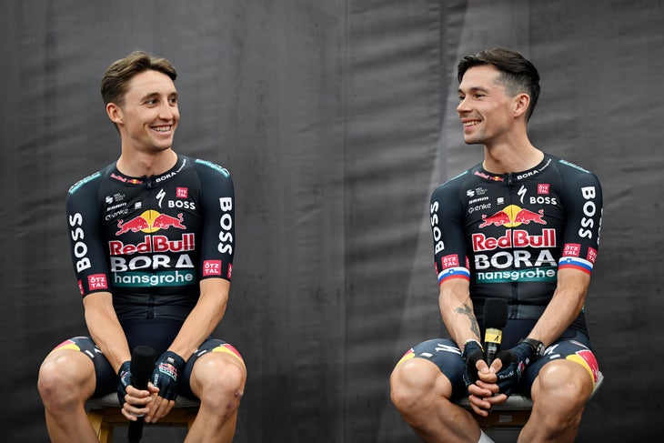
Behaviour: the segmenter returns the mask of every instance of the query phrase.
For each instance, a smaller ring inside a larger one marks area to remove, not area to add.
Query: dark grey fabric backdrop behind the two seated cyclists
[[[578,441],[660,439],[663,30],[648,0],[2,2],[3,441],[47,440],[39,364],[86,333],[65,193],[119,155],[98,85],[134,49],[178,69],[176,150],[234,177],[236,441],[417,441],[387,380],[441,330],[428,199],[481,158],[455,66],[496,45],[538,66],[534,144],[604,186],[587,315],[606,381]]]

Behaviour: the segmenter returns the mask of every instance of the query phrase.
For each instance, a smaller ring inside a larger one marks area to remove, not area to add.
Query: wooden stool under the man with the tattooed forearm
[[[592,398],[598,391],[599,387],[604,381],[604,376],[601,372],[598,373],[598,381],[595,384],[595,389],[592,391]],[[508,401],[502,405],[498,405],[491,409],[488,417],[482,417],[475,414],[470,408],[468,397],[461,398],[458,403],[459,406],[467,408],[473,417],[478,420],[479,426],[485,430],[490,429],[520,429],[530,418],[530,411],[533,408],[532,400],[527,396],[512,394],[508,397]]]

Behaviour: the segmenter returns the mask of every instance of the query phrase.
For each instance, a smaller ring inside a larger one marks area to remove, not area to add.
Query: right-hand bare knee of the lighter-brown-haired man
[[[231,358],[210,354],[196,363],[201,404],[225,413],[239,408],[246,382],[244,365]]]

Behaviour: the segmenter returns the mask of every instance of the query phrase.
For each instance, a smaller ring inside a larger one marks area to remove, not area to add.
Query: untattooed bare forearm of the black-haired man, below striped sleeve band
[[[558,287],[528,337],[551,345],[572,324],[586,299],[590,276],[573,269],[558,271]]]

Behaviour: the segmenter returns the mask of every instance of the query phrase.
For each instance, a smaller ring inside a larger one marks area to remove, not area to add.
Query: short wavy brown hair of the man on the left
[[[113,62],[102,77],[101,93],[104,105],[125,104],[126,86],[133,76],[145,71],[157,71],[176,81],[176,68],[166,58],[155,57],[144,51],[134,51]]]

